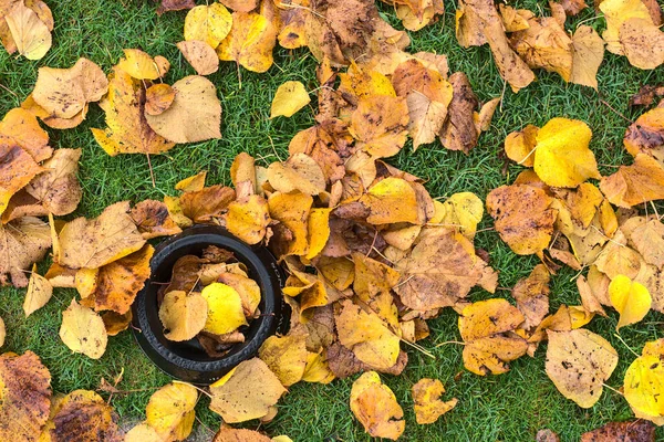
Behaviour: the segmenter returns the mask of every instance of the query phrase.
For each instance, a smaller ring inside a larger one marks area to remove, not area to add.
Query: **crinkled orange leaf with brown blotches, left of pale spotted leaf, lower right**
[[[476,375],[500,375],[507,362],[526,354],[526,339],[513,333],[523,315],[506,299],[480,301],[465,307],[459,316],[464,366]]]

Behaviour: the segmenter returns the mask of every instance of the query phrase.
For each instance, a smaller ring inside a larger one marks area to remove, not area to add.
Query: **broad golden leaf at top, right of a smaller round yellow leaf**
[[[251,72],[262,73],[272,65],[277,32],[272,23],[256,12],[234,12],[228,36],[217,48],[222,61],[235,61]]]

